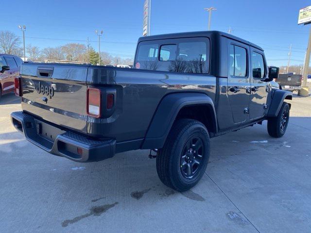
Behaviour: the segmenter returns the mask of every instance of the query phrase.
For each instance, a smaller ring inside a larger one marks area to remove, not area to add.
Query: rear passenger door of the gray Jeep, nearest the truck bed
[[[238,42],[229,43],[228,88],[233,121],[241,124],[249,120],[250,77],[248,69],[248,46]]]

